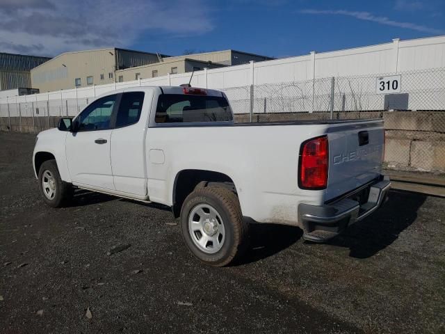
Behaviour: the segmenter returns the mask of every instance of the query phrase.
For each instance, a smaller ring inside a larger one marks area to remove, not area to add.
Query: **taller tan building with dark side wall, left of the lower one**
[[[81,88],[115,82],[115,72],[158,63],[163,54],[118,49],[65,52],[31,70],[32,88],[40,92]]]

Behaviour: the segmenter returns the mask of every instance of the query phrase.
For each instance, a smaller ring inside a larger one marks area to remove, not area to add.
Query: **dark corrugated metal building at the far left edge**
[[[50,59],[0,52],[0,90],[31,88],[31,69]]]

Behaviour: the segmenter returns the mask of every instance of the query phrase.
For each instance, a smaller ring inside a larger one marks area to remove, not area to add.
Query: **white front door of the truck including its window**
[[[114,190],[111,172],[111,118],[119,95],[93,102],[74,120],[76,132],[66,138],[66,157],[72,182]]]

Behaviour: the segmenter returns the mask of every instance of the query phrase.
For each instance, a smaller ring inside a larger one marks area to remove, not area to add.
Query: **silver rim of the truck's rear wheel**
[[[213,254],[223,247],[224,222],[214,207],[198,204],[188,215],[188,232],[193,244],[204,253]]]

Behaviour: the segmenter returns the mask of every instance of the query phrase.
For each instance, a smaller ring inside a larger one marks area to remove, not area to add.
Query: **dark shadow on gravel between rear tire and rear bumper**
[[[303,231],[289,225],[250,223],[250,247],[234,265],[257,262],[280,253],[301,239]]]

